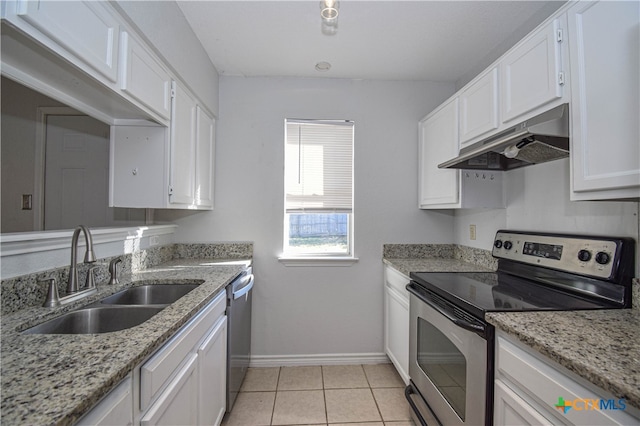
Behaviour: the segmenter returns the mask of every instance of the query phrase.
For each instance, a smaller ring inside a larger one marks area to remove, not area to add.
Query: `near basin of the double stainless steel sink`
[[[35,327],[25,334],[94,334],[109,333],[140,325],[164,306],[113,306],[85,308],[69,312]]]

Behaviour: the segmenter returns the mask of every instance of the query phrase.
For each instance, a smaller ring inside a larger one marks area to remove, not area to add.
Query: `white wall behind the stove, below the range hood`
[[[511,170],[504,181],[506,209],[456,212],[456,243],[488,250],[500,228],[640,241],[637,202],[569,201],[569,159]],[[475,241],[469,240],[470,224],[476,225]]]

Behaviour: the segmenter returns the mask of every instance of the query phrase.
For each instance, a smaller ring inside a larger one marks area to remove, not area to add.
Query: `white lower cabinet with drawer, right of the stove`
[[[624,401],[496,334],[495,425],[632,425]],[[569,407],[564,409],[564,407]]]

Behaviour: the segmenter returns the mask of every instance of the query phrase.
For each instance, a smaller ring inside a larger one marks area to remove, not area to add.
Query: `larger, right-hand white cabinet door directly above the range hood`
[[[563,15],[549,22],[500,60],[502,122],[522,120],[525,114],[562,98],[561,42],[565,20]]]

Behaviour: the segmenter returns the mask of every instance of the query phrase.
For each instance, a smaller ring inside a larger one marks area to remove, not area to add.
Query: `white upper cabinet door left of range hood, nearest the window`
[[[420,208],[450,208],[460,202],[460,171],[438,164],[458,155],[458,98],[420,122]]]

